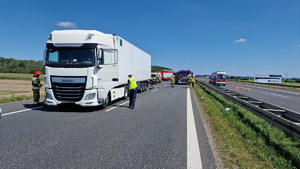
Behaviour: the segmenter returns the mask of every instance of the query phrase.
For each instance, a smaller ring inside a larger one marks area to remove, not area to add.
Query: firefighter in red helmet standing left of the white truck
[[[34,106],[40,105],[40,88],[43,86],[43,84],[41,84],[39,79],[40,74],[41,74],[40,71],[35,71],[31,79]]]

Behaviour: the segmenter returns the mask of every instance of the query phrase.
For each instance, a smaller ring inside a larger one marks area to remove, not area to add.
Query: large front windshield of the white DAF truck
[[[49,50],[46,56],[46,66],[49,67],[95,66],[95,49]]]

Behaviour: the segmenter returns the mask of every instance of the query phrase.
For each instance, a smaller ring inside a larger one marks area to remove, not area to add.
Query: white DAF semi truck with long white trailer
[[[115,34],[95,30],[55,30],[44,51],[47,105],[107,107],[128,97],[128,74],[138,92],[151,79],[151,56]]]

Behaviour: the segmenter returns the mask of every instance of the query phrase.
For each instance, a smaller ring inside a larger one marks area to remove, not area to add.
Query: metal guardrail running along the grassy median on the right
[[[213,86],[203,81],[197,80],[197,82],[204,84],[214,91],[217,91],[229,100],[238,103],[257,116],[282,129],[286,133],[289,133],[300,139],[300,113],[246,95],[242,95],[225,88]]]

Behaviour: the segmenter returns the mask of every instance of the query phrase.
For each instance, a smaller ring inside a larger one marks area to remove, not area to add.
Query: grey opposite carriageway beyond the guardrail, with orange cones
[[[198,79],[208,83],[208,79]],[[230,83],[224,86],[224,88],[235,91],[236,86],[238,86],[238,93],[269,102],[271,104],[295,111],[300,113],[300,92],[284,89],[276,89],[262,86],[254,85],[244,85],[239,83]],[[234,87],[232,87],[232,84]],[[241,90],[241,85],[243,89]],[[222,86],[223,87],[223,86]],[[247,92],[247,89],[250,89],[250,92]]]

